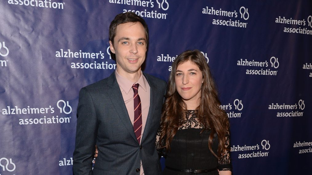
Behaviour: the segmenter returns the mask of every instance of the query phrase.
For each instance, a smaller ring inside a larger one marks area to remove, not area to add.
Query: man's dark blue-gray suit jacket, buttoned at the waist
[[[161,173],[155,139],[160,124],[166,82],[144,74],[150,86],[150,107],[139,145],[127,108],[116,80],[110,77],[83,87],[77,107],[76,145],[73,155],[74,174],[133,174],[142,160],[144,174]],[[98,157],[92,171],[92,159]]]

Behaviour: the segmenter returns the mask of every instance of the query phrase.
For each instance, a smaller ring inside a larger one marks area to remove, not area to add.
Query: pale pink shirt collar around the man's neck
[[[143,90],[145,92],[147,92],[146,89],[146,79],[143,76],[143,72],[141,71],[141,76],[138,79],[137,82],[132,82],[130,80],[128,80],[127,78],[122,77],[117,70],[115,70],[115,75],[116,75],[116,79],[117,79],[117,83],[118,85],[124,90],[124,92],[126,92],[126,94],[128,94],[130,92],[130,90],[132,90],[132,85],[139,83],[139,86],[141,86],[143,88]]]

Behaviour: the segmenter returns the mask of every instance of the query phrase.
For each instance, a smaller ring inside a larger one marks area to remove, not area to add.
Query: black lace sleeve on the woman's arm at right
[[[225,147],[228,148],[230,146],[230,135],[229,133],[226,135],[226,142],[225,142]],[[219,166],[218,169],[219,171],[227,171],[227,170],[232,170],[232,162],[230,159],[230,150],[227,149],[225,152],[223,152],[218,160]]]

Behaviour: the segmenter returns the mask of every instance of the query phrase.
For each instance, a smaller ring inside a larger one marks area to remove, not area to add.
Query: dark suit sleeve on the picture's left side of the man
[[[92,160],[98,130],[95,106],[90,92],[84,87],[79,92],[77,107],[76,144],[73,154],[75,175],[92,175]]]

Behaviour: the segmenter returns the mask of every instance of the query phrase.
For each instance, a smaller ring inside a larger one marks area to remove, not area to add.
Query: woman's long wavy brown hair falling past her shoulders
[[[221,103],[217,97],[217,89],[212,74],[205,57],[199,50],[187,50],[183,52],[172,64],[166,100],[162,110],[160,140],[164,141],[163,147],[170,151],[170,143],[181,125],[181,117],[185,115],[184,111],[187,109],[187,106],[176,89],[175,74],[178,65],[188,60],[196,64],[202,72],[202,92],[201,98],[199,99],[200,104],[196,109],[196,116],[200,124],[204,126],[202,132],[205,129],[211,130],[211,134],[208,138],[208,147],[212,154],[218,158],[221,156],[221,153],[228,149],[226,147],[226,135],[229,131],[229,122],[226,112],[219,108]],[[212,151],[212,140],[216,134],[218,136],[219,145],[217,153],[214,153]]]

